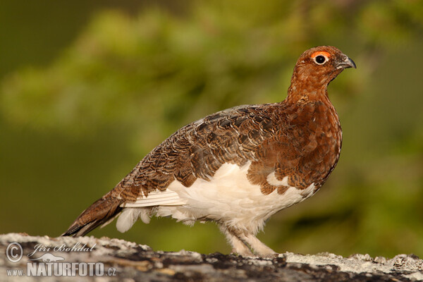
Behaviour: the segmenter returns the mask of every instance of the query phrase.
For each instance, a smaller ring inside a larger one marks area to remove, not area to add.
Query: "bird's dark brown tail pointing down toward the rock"
[[[121,199],[103,197],[85,209],[62,236],[83,236],[100,225],[106,225],[121,213]]]

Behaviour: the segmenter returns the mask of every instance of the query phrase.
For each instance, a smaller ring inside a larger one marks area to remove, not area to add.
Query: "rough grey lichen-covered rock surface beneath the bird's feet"
[[[16,243],[23,250],[20,259]],[[0,235],[0,253],[0,281],[423,281],[423,260],[415,255],[386,259],[286,252],[262,259],[185,250],[154,252],[125,240],[21,233]],[[52,256],[43,256],[45,262],[38,259],[46,253]]]

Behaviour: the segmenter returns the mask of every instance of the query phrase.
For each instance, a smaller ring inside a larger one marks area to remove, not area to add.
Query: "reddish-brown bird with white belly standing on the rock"
[[[256,235],[276,212],[314,195],[341,154],[342,130],[327,92],[355,63],[336,47],[302,53],[282,102],[235,106],[183,126],[147,154],[62,235],[82,236],[118,217],[214,221],[232,253],[278,255]]]

